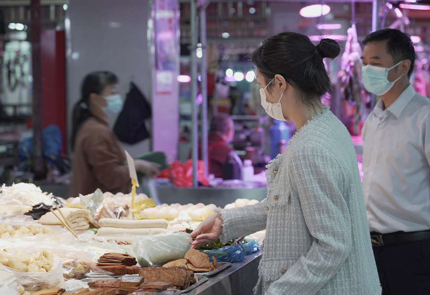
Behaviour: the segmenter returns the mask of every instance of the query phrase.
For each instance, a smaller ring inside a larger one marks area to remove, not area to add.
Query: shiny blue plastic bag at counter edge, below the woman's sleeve
[[[245,259],[246,255],[250,255],[259,250],[258,241],[247,239],[247,242],[248,243],[241,245],[235,244],[233,246],[225,246],[218,250],[201,250],[200,252],[208,255],[211,262],[213,262],[213,256],[218,262],[240,262]]]

